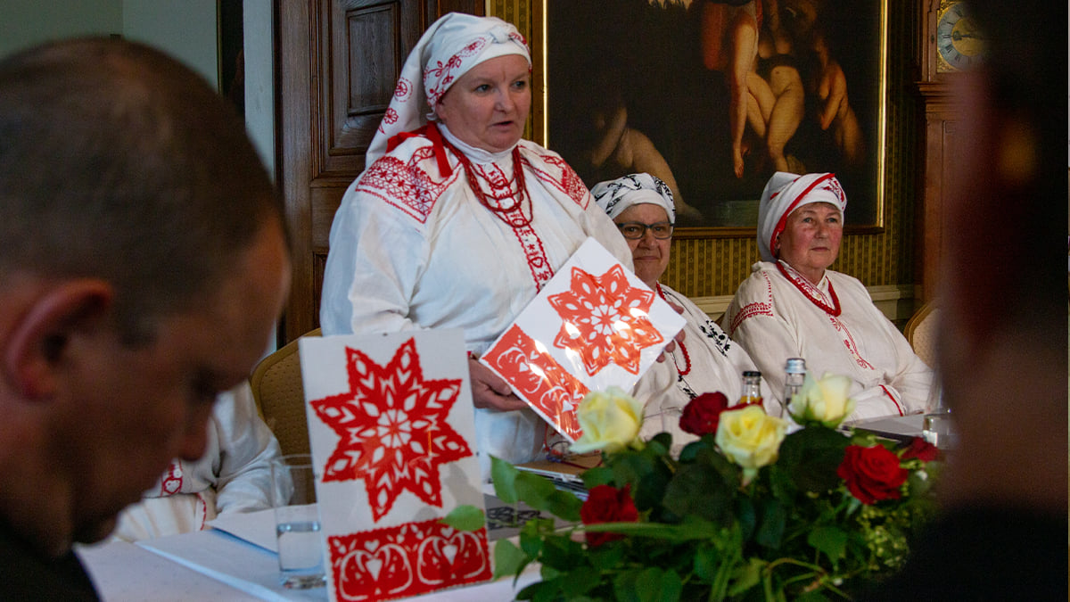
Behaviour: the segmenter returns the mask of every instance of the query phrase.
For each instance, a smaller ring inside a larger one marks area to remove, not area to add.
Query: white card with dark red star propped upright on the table
[[[492,576],[468,353],[458,329],[305,337],[301,372],[332,600],[392,600]]]

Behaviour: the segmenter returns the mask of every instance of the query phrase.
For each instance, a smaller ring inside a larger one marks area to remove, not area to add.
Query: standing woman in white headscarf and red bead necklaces
[[[561,156],[522,140],[531,56],[511,25],[450,13],[413,48],[331,228],[323,334],[460,328],[480,465],[533,460],[547,424],[484,352],[588,237],[628,245]]]

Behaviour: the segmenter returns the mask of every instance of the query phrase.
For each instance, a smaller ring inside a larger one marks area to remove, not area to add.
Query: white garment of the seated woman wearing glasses
[[[758,370],[750,356],[721,330],[721,327],[690,299],[672,288],[658,284],[662,299],[684,308],[684,341],[667,353],[664,361],[651,366],[648,374],[636,385],[636,397],[645,403],[640,436],[649,439],[662,431],[671,433],[673,445],[679,446],[699,437],[679,428],[684,406],[703,393],[721,392],[730,404],[743,394],[743,373]],[[778,395],[762,382],[766,411],[780,416]]]

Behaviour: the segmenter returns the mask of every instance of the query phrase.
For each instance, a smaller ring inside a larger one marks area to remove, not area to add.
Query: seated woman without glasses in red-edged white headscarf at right
[[[831,174],[774,174],[759,206],[762,261],[739,285],[721,326],[777,391],[788,358],[804,358],[815,377],[854,381],[857,407],[849,420],[924,411],[932,370],[862,283],[828,269],[840,251],[846,205]]]

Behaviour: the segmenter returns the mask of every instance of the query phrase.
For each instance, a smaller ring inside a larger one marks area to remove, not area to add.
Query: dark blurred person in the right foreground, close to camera
[[[943,516],[861,600],[1067,600],[1067,4],[968,7],[990,55],[954,84],[937,335],[959,445]]]

